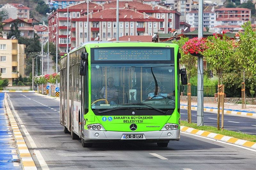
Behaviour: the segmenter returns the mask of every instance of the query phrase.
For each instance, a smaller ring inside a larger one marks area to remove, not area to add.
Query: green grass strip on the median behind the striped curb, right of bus
[[[195,128],[195,129],[202,130],[202,131],[209,131],[212,133],[217,133],[217,134],[221,134],[224,136],[230,136],[233,138],[256,142],[256,135],[249,135],[249,134],[245,134],[242,132],[228,131],[225,129],[224,129],[224,131],[221,131],[221,130],[218,131],[217,128],[213,127],[213,126],[197,126],[197,124],[195,124],[195,123],[189,124],[187,121],[182,121],[182,120],[180,121],[180,125]]]

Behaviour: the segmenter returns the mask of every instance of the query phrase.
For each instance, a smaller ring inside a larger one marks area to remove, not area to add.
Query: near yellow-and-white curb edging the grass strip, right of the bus
[[[250,141],[247,141],[247,140],[233,138],[233,137],[230,137],[230,136],[224,136],[224,135],[217,134],[217,133],[212,133],[212,132],[209,132],[209,131],[202,131],[202,130],[190,128],[190,127],[187,127],[187,126],[180,126],[180,131],[191,133],[191,134],[194,134],[194,135],[203,136],[203,137],[206,137],[206,138],[212,138],[212,139],[215,139],[215,140],[220,140],[222,142],[227,142],[227,143],[230,143],[230,144],[240,145],[240,146],[244,146],[244,147],[248,147],[248,148],[256,150],[256,142],[250,142]]]

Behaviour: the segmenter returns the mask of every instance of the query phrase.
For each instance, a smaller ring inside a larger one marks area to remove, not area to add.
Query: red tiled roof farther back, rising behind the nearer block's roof
[[[129,9],[134,9],[136,8],[138,11],[142,11],[142,10],[161,10],[161,11],[168,11],[168,9],[160,7],[160,6],[151,6],[148,4],[142,4],[140,2],[136,2],[136,1],[119,1],[119,9],[120,8],[125,8],[125,3],[128,3],[128,8]],[[109,2],[109,3],[105,3],[104,5],[104,9],[116,9],[116,2]]]

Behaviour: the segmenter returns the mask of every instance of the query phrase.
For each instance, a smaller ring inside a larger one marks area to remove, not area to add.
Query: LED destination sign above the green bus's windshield
[[[171,60],[170,48],[97,48],[95,61],[115,60]]]

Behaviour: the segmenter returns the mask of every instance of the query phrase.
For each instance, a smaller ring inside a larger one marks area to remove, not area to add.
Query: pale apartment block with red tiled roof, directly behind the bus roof
[[[116,10],[105,9],[89,15],[89,32],[87,35],[87,16],[72,20],[71,48],[87,41],[108,41],[116,38]],[[151,17],[130,9],[119,10],[119,37],[135,35],[154,35],[164,28],[164,19]]]

